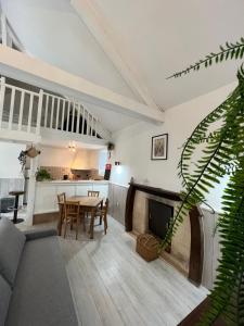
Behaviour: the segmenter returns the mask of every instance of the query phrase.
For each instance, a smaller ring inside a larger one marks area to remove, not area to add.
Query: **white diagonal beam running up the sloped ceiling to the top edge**
[[[127,85],[139,96],[149,106],[159,110],[155,101],[149,93],[147,88],[137,78],[133,65],[125,60],[123,48],[116,42],[112,34],[112,26],[101,15],[97,3],[92,0],[72,0],[70,4],[76,10],[79,17],[86,24],[90,33],[99,42],[103,51],[113,62]]]

